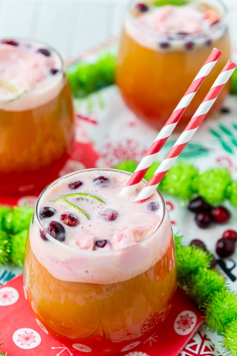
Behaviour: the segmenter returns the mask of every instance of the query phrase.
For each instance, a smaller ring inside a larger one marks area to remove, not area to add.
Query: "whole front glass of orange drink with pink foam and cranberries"
[[[176,290],[171,222],[160,192],[134,203],[130,173],[88,169],[39,197],[24,283],[37,322],[76,352],[132,349],[166,317]]]

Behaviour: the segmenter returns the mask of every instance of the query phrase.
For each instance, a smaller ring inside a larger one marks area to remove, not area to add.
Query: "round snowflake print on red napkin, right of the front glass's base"
[[[184,310],[174,321],[174,330],[179,335],[188,335],[196,325],[196,314],[190,310]]]

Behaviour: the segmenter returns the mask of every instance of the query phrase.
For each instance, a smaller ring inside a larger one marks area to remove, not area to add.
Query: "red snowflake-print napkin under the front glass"
[[[202,355],[197,353],[201,348],[205,355],[213,355],[214,345],[208,344],[205,335],[199,333],[200,343],[192,339],[196,330],[203,323],[201,312],[192,304],[189,297],[177,289],[172,304],[167,308],[167,318],[145,342],[128,342],[123,347],[123,356],[182,356]],[[23,289],[22,275],[11,279],[0,288],[1,333],[4,338],[8,356],[36,355],[90,355],[91,348],[83,344],[73,344],[71,349],[59,345],[48,331],[31,314]],[[148,323],[152,325],[153,321]],[[187,346],[187,342],[192,339]],[[205,345],[204,345],[205,344]],[[199,347],[200,346],[200,347]],[[204,346],[204,347],[203,347]],[[112,349],[103,347],[101,350],[109,355]],[[207,353],[208,351],[208,353]]]

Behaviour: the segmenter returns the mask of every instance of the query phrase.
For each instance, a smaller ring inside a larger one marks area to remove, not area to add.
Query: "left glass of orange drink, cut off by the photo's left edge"
[[[43,43],[0,42],[0,76],[27,88],[9,101],[0,90],[0,192],[42,190],[58,177],[74,145],[74,110],[63,61]]]

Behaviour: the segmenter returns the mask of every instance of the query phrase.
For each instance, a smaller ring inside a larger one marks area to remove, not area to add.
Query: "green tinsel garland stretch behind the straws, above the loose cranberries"
[[[136,166],[134,161],[124,161],[114,168],[133,173]],[[159,162],[152,163],[145,174],[147,180],[158,166]],[[232,180],[226,168],[216,167],[199,172],[192,163],[179,160],[169,169],[158,188],[161,192],[166,191],[181,199],[191,200],[199,195],[211,205],[220,204],[227,199],[237,206],[237,181]]]

